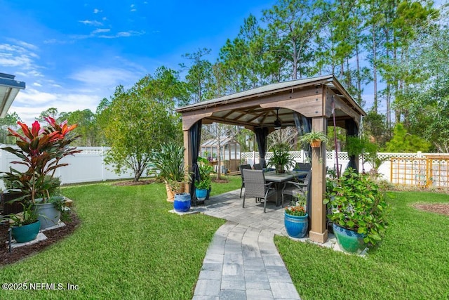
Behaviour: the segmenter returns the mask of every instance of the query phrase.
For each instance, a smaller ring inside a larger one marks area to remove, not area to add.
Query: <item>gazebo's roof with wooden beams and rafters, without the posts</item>
[[[338,126],[344,126],[345,119],[358,122],[361,115],[366,115],[333,75],[269,84],[179,107],[175,111],[182,113],[184,129],[203,119],[203,124],[220,122],[248,129],[262,126],[272,131],[278,111],[283,127],[295,126],[293,110],[305,117],[330,118],[333,99]]]

